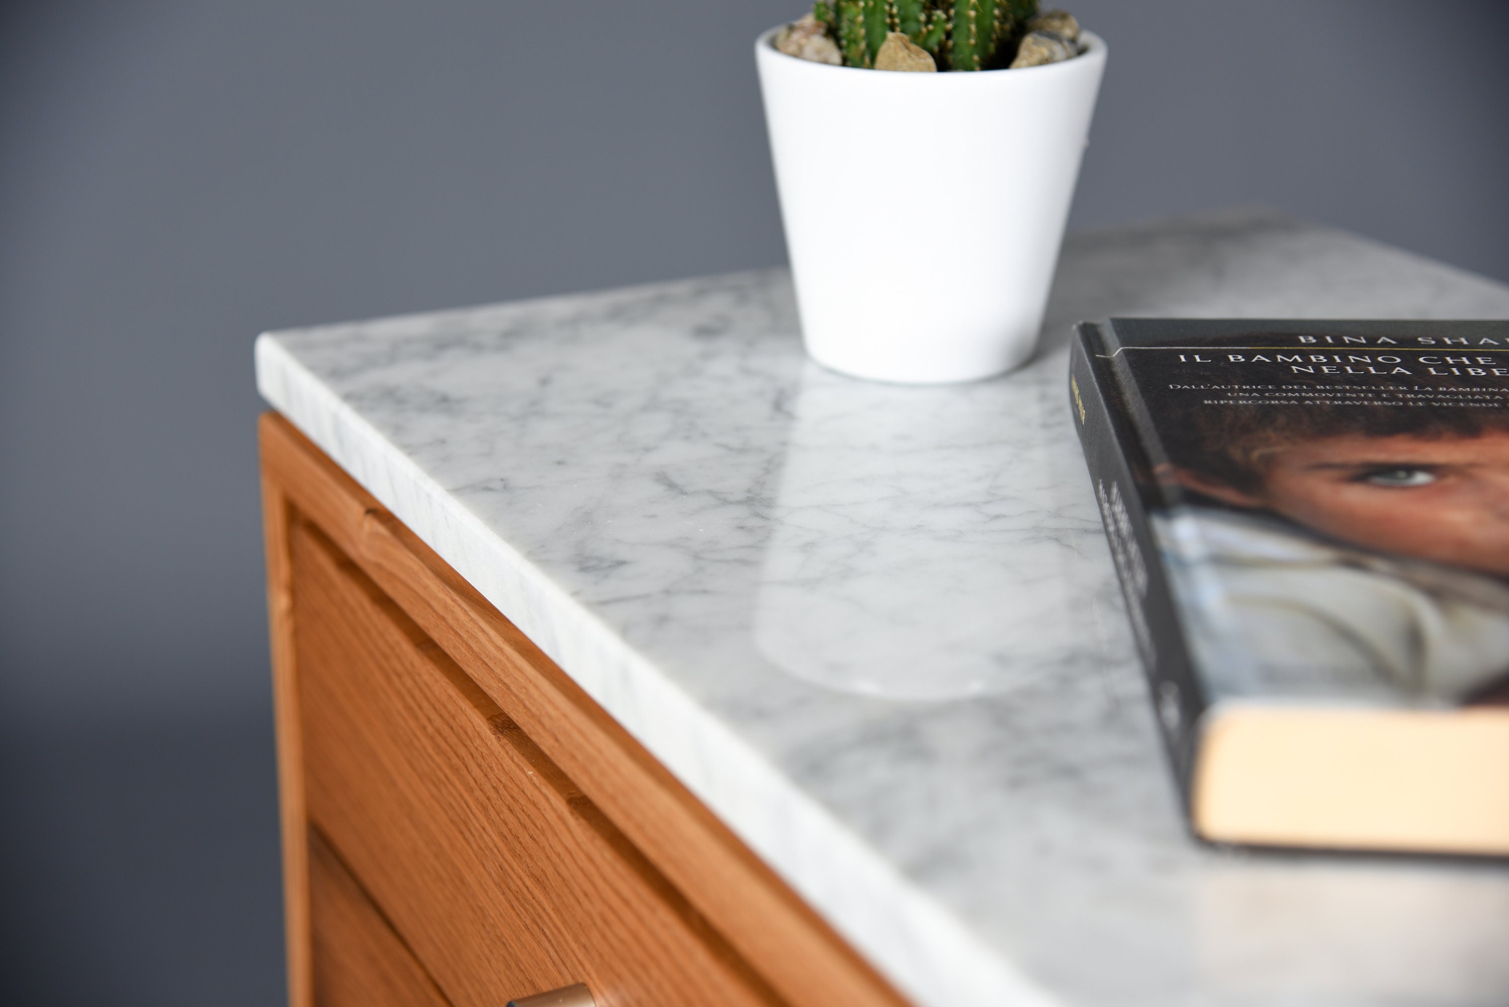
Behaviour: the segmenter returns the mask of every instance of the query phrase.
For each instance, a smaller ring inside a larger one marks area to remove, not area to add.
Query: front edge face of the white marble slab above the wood
[[[534,303],[549,300],[563,297]],[[487,528],[278,337],[264,332],[255,344],[263,399],[507,614],[898,989],[924,1007],[1061,1004]]]

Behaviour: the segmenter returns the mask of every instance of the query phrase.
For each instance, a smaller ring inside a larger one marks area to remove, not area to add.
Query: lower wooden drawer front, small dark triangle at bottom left
[[[318,830],[309,830],[309,924],[320,1007],[450,1007]]]

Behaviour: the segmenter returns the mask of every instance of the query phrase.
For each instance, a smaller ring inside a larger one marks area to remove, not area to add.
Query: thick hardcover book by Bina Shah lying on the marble
[[[1509,855],[1509,322],[1111,319],[1068,393],[1192,832]]]

